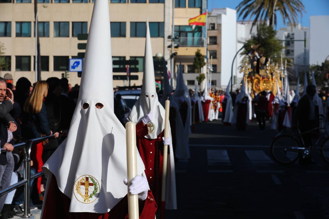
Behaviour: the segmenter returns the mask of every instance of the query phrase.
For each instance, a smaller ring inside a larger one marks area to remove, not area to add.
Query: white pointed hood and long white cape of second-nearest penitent
[[[145,115],[147,115],[150,111],[152,111],[153,120],[147,123],[147,126],[150,128],[148,129],[148,134],[145,135],[144,137],[149,140],[154,140],[157,139],[158,136],[164,131],[165,110],[158,100],[158,95],[155,89],[153,55],[152,55],[151,37],[150,37],[148,20],[146,22],[144,60],[145,62],[144,62],[142,90],[139,99],[136,101],[135,105],[131,109],[128,119],[138,124],[139,122],[142,122],[142,118]],[[170,126],[169,126],[168,136],[171,138]],[[139,146],[140,145],[138,145],[138,147]],[[147,150],[147,148],[143,148],[143,149]],[[176,204],[175,163],[174,163],[172,142],[170,143],[168,150],[169,150],[168,151],[169,156],[168,156],[168,167],[167,167],[168,171],[167,171],[165,204],[166,204],[166,209],[176,209],[177,204]],[[142,152],[140,153],[142,154]],[[146,177],[149,177],[147,176],[147,171],[146,171]]]

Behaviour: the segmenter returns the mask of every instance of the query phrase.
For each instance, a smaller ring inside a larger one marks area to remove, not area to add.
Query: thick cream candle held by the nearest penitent
[[[128,213],[129,219],[139,219],[138,194],[132,195],[129,191],[131,180],[137,176],[137,156],[136,156],[136,124],[126,123],[127,142],[127,179],[128,179]]]

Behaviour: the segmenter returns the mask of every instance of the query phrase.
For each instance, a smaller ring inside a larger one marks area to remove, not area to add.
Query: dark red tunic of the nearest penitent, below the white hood
[[[124,219],[128,218],[128,198],[127,195],[121,199],[107,213],[90,212],[69,212],[71,199],[64,195],[58,188],[56,178],[53,175],[47,192],[47,197],[43,209],[43,219]],[[96,204],[97,205],[97,204]],[[149,190],[145,201],[139,201],[139,218],[155,218],[157,204],[153,194]]]

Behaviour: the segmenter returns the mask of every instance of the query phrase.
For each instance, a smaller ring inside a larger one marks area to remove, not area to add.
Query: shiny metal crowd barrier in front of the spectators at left
[[[55,135],[50,136],[44,136],[40,138],[31,139],[28,141],[28,143],[19,143],[14,144],[13,147],[15,148],[23,148],[24,152],[24,179],[15,183],[14,185],[9,186],[8,188],[0,190],[0,196],[4,195],[10,191],[13,191],[14,189],[23,186],[24,185],[24,214],[21,216],[23,218],[29,218],[31,216],[31,209],[30,209],[30,194],[31,194],[31,180],[36,179],[38,177],[41,177],[43,175],[43,172],[38,172],[31,176],[31,159],[30,159],[30,153],[32,144],[36,142],[42,142],[46,139],[52,139],[55,138]],[[7,150],[1,149],[1,153],[6,152]]]

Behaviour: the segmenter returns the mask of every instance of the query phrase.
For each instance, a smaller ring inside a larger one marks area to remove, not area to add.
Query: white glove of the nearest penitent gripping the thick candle
[[[127,185],[128,180],[124,179],[123,183]],[[131,185],[129,186],[129,192],[133,195],[138,194],[139,200],[145,200],[148,193],[148,182],[147,179],[141,175],[137,175],[131,180]]]

